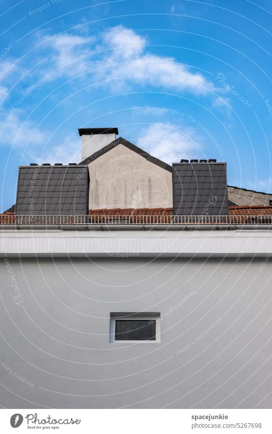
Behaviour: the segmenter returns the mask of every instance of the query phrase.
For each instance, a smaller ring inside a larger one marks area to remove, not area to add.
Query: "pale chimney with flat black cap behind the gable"
[[[79,128],[82,137],[81,161],[113,142],[118,128]]]

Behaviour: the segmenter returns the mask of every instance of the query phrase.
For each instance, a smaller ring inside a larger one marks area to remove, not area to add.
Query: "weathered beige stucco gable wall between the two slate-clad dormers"
[[[126,146],[96,158],[89,173],[90,209],[172,207],[171,172]]]

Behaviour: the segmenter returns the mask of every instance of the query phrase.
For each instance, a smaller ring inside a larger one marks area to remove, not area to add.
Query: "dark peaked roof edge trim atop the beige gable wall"
[[[118,139],[113,140],[111,143],[104,146],[104,148],[100,149],[99,151],[96,151],[94,154],[90,155],[88,158],[85,158],[80,164],[89,164],[92,161],[94,161],[96,158],[100,157],[101,155],[105,154],[110,149],[112,149],[118,145],[126,146],[131,151],[136,152],[137,154],[141,155],[143,158],[147,159],[147,161],[150,161],[151,163],[156,164],[157,166],[161,167],[162,169],[166,169],[169,172],[172,172],[172,167],[169,166],[167,163],[161,161],[159,158],[153,157],[148,152],[143,151],[141,148],[138,148],[138,146],[134,145],[133,143],[129,142],[126,139],[123,139],[122,137],[119,137]]]

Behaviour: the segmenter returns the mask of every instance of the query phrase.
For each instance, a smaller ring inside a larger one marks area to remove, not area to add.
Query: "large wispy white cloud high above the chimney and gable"
[[[115,91],[135,85],[200,95],[215,90],[201,73],[192,72],[174,57],[147,51],[146,38],[123,26],[89,38],[57,35],[46,44],[58,50],[54,60],[59,74],[70,77],[89,72],[94,82],[104,81],[105,86],[107,81]]]

